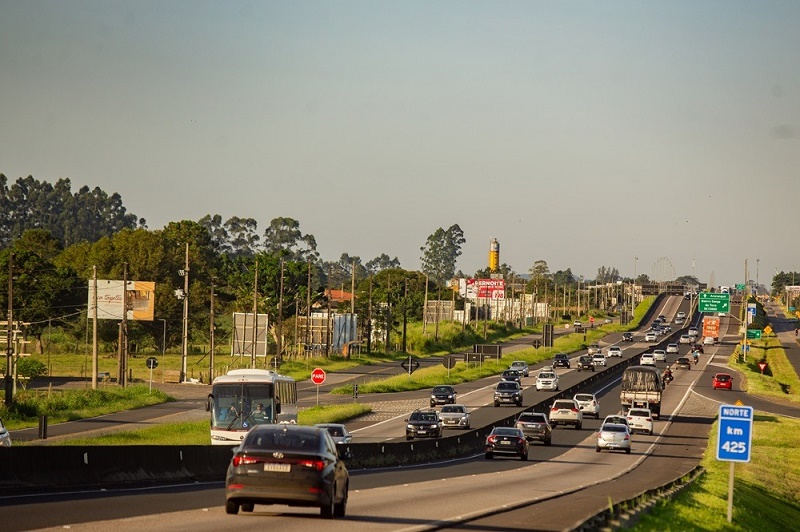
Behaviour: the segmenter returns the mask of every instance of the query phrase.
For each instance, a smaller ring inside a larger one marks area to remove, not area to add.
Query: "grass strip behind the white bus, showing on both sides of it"
[[[368,405],[315,406],[301,410],[298,424],[344,423],[372,411]],[[209,445],[207,420],[164,423],[138,430],[117,431],[95,437],[71,438],[50,442],[50,445]]]

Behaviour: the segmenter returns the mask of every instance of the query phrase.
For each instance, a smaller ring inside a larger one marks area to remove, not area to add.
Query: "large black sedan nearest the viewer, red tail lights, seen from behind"
[[[325,429],[257,425],[234,451],[225,479],[225,511],[256,504],[316,506],[344,517],[350,476]]]

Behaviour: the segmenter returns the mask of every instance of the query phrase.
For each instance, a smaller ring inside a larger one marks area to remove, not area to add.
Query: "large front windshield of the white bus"
[[[272,383],[215,384],[212,395],[212,428],[249,430],[276,422]]]

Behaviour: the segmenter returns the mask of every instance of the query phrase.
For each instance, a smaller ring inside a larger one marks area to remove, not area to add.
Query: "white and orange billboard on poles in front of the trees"
[[[123,281],[97,280],[97,319],[122,320]],[[153,321],[156,307],[156,283],[128,281],[129,320]],[[94,281],[89,281],[89,317],[94,317]]]

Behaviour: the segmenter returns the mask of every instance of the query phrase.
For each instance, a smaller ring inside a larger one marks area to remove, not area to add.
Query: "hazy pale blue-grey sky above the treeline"
[[[0,173],[323,260],[800,271],[800,2],[0,0]],[[674,274],[674,275],[673,275]]]

